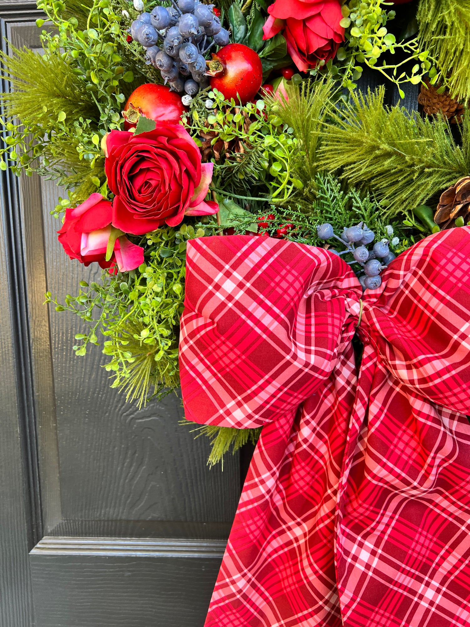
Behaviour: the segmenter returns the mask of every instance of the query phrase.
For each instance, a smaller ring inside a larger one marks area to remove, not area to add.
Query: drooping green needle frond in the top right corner
[[[419,38],[453,97],[470,98],[470,0],[420,0]]]

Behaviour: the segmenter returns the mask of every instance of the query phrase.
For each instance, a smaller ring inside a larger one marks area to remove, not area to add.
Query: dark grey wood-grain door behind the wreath
[[[39,48],[38,16],[0,3],[2,36]],[[209,470],[179,398],[137,411],[100,349],[75,357],[80,320],[44,292],[99,270],[58,245],[53,181],[3,172],[0,191],[0,627],[202,626],[239,456]]]

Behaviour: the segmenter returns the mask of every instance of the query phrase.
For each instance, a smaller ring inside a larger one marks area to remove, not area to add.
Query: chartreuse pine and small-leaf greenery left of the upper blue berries
[[[13,57],[1,56],[11,91],[1,95],[9,136],[0,155],[16,174],[37,171],[75,188],[73,204],[97,189],[106,194],[101,139],[120,128],[135,75],[142,83],[153,71],[126,41],[124,6],[135,13],[119,0],[39,0],[53,27],[41,34],[44,55],[13,48]]]

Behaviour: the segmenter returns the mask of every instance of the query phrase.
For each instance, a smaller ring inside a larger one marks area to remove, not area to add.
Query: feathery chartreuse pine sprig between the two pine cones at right
[[[399,105],[384,107],[384,88],[353,93],[331,108],[320,164],[352,186],[370,189],[391,216],[426,204],[470,171],[470,119],[461,144],[442,116],[421,119]]]

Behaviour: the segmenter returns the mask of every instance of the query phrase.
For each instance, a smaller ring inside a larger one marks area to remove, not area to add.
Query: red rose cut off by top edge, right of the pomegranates
[[[263,39],[271,39],[284,29],[287,51],[300,71],[332,59],[344,41],[339,0],[276,0],[268,13]]]

